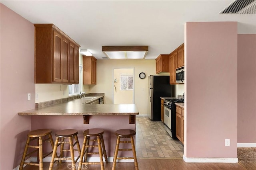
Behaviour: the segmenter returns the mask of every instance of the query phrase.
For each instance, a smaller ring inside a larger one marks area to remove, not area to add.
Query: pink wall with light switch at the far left
[[[34,25],[3,4],[1,11],[1,170],[20,164],[30,116],[19,111],[35,107]],[[31,93],[31,100],[27,100]]]

